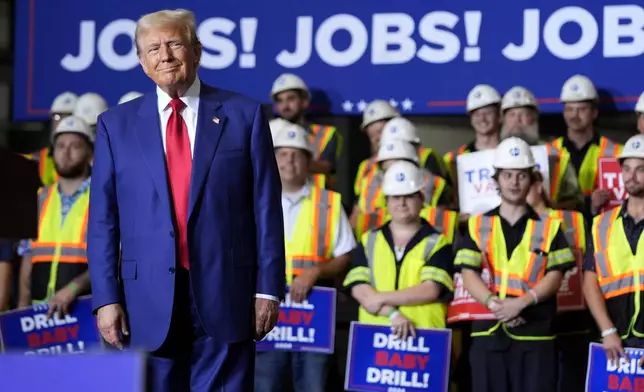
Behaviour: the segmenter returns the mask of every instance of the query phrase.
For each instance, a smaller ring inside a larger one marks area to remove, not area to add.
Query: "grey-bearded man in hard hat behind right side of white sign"
[[[552,207],[561,210],[582,210],[584,197],[579,188],[570,154],[540,139],[539,104],[534,95],[525,87],[512,87],[501,100],[501,110],[503,112],[501,140],[516,136],[530,145],[546,146],[550,171],[549,197]]]

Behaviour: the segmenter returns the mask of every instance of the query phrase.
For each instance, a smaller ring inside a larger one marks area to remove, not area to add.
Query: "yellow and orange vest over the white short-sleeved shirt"
[[[333,259],[342,211],[339,193],[315,186],[301,203],[291,239],[284,238],[288,285],[305,269]]]

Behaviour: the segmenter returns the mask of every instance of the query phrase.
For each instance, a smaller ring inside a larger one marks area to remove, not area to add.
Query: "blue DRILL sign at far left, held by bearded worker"
[[[78,354],[102,346],[92,315],[91,297],[82,297],[71,314],[47,318],[47,305],[17,309],[0,315],[4,351],[22,354]]]

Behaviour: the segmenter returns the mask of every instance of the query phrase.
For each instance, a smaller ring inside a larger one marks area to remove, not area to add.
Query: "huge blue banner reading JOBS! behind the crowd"
[[[14,117],[43,117],[63,91],[152,91],[133,36],[171,0],[16,2]],[[284,72],[301,76],[316,108],[360,114],[388,99],[404,114],[464,113],[479,83],[522,85],[543,112],[561,109],[564,81],[581,73],[631,110],[644,54],[644,8],[627,0],[184,0],[197,16],[201,77],[269,101]]]

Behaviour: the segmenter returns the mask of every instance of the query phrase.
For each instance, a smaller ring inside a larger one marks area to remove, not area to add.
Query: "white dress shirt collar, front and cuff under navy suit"
[[[181,117],[186,122],[188,129],[188,140],[190,140],[190,155],[194,157],[195,139],[197,138],[197,117],[199,116],[199,93],[201,92],[201,81],[195,78],[192,86],[181,96],[179,99],[186,104],[186,107],[181,111]],[[159,109],[159,120],[161,121],[161,139],[163,140],[163,151],[167,152],[166,148],[166,129],[168,127],[168,120],[172,114],[172,107],[170,107],[172,98],[161,88],[157,86],[157,107]],[[279,299],[274,295],[268,294],[255,294],[255,298],[270,299],[279,302]]]

